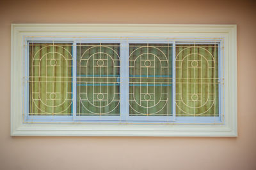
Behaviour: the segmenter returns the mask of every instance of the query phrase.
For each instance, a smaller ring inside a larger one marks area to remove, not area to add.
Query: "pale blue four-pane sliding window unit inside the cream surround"
[[[27,42],[24,120],[223,121],[221,41]]]

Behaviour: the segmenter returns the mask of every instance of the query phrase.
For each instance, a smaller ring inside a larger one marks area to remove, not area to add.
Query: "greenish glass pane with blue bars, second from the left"
[[[120,115],[120,44],[77,43],[77,116]]]

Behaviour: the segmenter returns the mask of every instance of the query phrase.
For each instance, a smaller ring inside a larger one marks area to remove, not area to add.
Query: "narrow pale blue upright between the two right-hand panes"
[[[176,45],[172,42],[172,118],[176,119]]]

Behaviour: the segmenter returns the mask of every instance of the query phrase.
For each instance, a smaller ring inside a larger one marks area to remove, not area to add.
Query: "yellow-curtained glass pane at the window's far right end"
[[[176,116],[218,117],[218,44],[176,45]]]

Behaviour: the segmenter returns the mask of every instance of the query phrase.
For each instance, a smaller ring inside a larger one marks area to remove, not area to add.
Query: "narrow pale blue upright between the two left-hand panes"
[[[76,99],[77,99],[77,97],[76,97],[76,41],[74,41],[74,43],[73,43],[73,46],[72,46],[72,48],[73,48],[73,62],[72,62],[72,67],[73,67],[73,69],[72,69],[72,97],[73,97],[73,104],[72,104],[72,106],[73,106],[73,108],[72,108],[72,116],[73,116],[73,120],[74,120],[74,118],[76,117]]]

